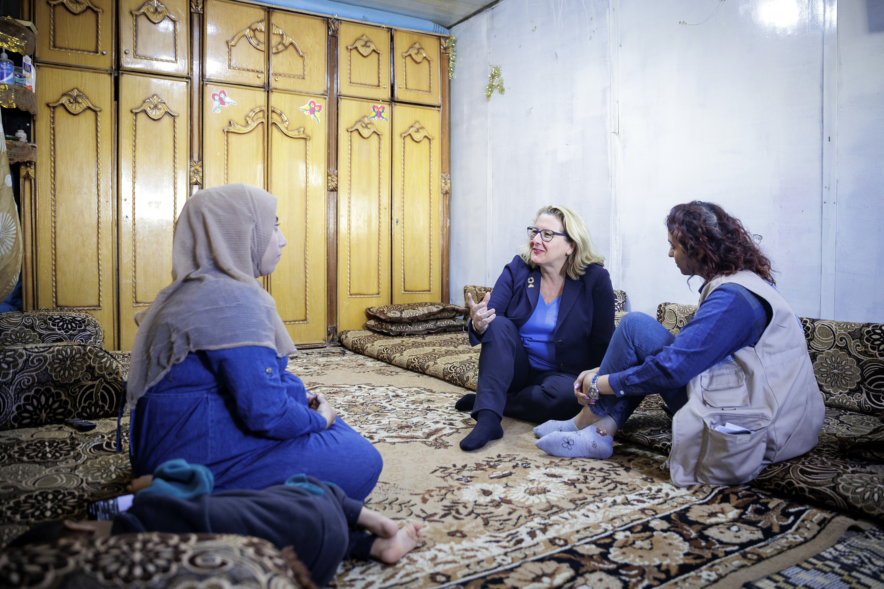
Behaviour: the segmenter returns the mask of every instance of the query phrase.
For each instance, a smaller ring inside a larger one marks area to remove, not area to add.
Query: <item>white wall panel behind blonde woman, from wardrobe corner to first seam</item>
[[[607,0],[505,0],[455,27],[451,300],[493,284],[537,208],[575,208],[608,251]],[[484,96],[491,65],[506,94]]]

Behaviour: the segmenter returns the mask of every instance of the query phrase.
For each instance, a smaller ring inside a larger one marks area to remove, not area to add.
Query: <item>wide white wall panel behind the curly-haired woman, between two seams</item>
[[[780,291],[819,316],[821,14],[796,0],[621,2],[622,283],[633,309],[694,303],[669,208],[712,200],[761,235]]]

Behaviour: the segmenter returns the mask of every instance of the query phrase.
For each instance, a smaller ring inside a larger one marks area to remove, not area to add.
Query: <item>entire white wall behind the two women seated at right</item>
[[[695,303],[663,220],[700,199],[763,236],[798,314],[884,321],[881,0],[841,0],[837,37],[834,4],[728,0],[688,26],[719,3],[503,0],[456,26],[452,300],[492,284],[526,217],[560,200],[632,310]],[[484,102],[492,64],[507,94]]]

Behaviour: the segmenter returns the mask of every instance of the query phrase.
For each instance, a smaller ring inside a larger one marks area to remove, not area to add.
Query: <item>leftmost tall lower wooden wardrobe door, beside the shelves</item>
[[[84,309],[113,349],[113,79],[44,65],[37,85],[37,308]]]

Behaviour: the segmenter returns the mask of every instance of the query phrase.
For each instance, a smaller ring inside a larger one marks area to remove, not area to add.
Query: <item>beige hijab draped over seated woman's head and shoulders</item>
[[[187,200],[172,242],[172,283],[135,315],[130,409],[191,351],[258,345],[278,358],[295,351],[276,302],[255,280],[276,208],[275,196],[245,184],[201,190]]]

